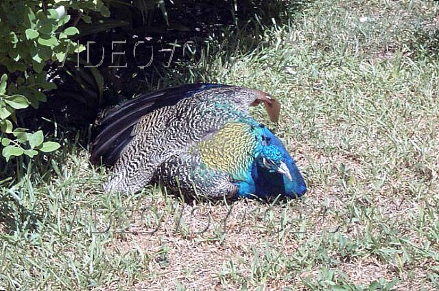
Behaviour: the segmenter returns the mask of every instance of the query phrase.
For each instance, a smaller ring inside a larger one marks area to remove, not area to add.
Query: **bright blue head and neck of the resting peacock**
[[[257,166],[252,170],[256,194],[265,197],[278,194],[300,197],[305,194],[305,181],[285,146],[275,135],[263,138]]]

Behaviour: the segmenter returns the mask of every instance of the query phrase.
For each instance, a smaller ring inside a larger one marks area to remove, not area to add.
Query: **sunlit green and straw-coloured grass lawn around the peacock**
[[[239,84],[281,100],[278,125],[253,113],[309,192],[271,203],[187,203],[156,187],[105,195],[105,171],[73,144],[3,184],[0,289],[439,288],[438,9],[304,3],[266,27],[259,49],[212,45],[200,68],[171,67],[162,84]]]

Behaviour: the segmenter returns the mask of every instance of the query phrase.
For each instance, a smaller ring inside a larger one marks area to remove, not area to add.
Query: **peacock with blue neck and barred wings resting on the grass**
[[[160,183],[189,196],[237,198],[305,194],[285,146],[248,113],[277,102],[257,89],[185,84],[141,94],[97,123],[91,163],[112,166],[108,192],[134,193]]]

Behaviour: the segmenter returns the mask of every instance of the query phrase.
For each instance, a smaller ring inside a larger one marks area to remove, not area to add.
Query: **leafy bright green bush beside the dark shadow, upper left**
[[[67,11],[74,12],[76,19]],[[66,54],[82,49],[71,41],[79,34],[74,24],[80,19],[90,22],[90,12],[110,14],[101,0],[8,0],[0,4],[0,139],[7,161],[59,148],[58,143],[44,141],[42,131],[32,133],[17,127],[16,110],[38,108],[46,101],[45,91],[56,88],[47,81],[44,68],[51,62],[64,62]]]

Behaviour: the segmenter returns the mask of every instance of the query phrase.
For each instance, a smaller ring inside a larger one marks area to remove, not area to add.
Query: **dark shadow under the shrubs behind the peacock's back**
[[[86,32],[78,39],[81,44],[95,42],[90,45],[88,65],[97,65],[103,59],[102,65],[84,67],[86,51],[80,54],[80,69],[75,68],[78,65],[77,56],[71,56],[64,67],[58,63],[51,64],[49,75],[58,89],[47,93],[48,102],[41,104],[38,110],[22,114],[21,123],[23,127],[43,128],[45,132],[54,130],[54,121],[64,131],[74,133],[84,130],[93,124],[99,111],[108,106],[152,89],[187,82],[185,68],[178,72],[180,80],[172,78],[169,72],[175,69],[176,62],[196,65],[204,47],[226,42],[223,50],[255,49],[263,27],[285,21],[306,2],[209,0],[174,1],[172,4],[165,1],[167,19],[160,8],[141,10],[127,5],[110,6],[110,20],[115,23],[123,21],[128,25],[91,34],[88,32],[99,28],[97,21],[93,25],[79,21],[77,25]],[[115,41],[126,43],[113,45]],[[112,52],[117,51],[125,51],[125,54],[112,56]],[[198,66],[191,69],[206,68]],[[195,80],[206,81],[209,80]],[[84,139],[80,141],[84,146],[88,143]]]

